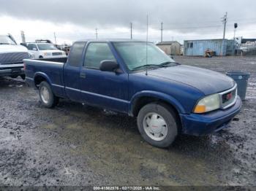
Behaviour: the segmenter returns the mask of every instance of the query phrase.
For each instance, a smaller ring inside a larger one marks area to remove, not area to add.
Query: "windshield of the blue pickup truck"
[[[158,68],[177,65],[173,59],[152,43],[148,43],[148,46],[146,46],[146,42],[114,42],[113,44],[130,71],[146,69],[146,67]],[[147,53],[146,48],[148,49]]]

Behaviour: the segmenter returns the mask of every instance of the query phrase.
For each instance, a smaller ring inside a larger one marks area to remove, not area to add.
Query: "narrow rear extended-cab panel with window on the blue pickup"
[[[72,101],[81,101],[80,69],[83,64],[83,48],[86,42],[75,42],[64,66],[64,84],[67,97]]]

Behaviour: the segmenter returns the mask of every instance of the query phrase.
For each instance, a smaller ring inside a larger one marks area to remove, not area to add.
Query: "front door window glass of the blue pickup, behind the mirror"
[[[103,60],[116,61],[107,43],[92,42],[86,50],[86,68],[99,69],[100,62]]]

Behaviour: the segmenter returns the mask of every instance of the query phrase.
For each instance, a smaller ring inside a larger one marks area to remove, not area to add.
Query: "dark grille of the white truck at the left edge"
[[[26,58],[29,58],[28,52],[0,53],[0,64],[23,63]]]

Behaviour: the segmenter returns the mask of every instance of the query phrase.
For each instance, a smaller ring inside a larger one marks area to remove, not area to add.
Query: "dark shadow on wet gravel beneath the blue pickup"
[[[125,131],[132,134],[132,136],[136,136],[137,139],[140,139],[139,141],[148,145],[140,137],[135,117],[127,117],[127,115],[124,114],[118,114],[116,112],[99,109],[93,106],[76,104],[67,100],[60,101],[58,109],[65,111],[68,114],[75,114],[78,117],[78,120],[82,120],[83,114],[86,114],[86,118],[91,119],[94,123],[96,122],[97,125],[100,125],[102,128],[107,128],[107,131]],[[116,136],[118,136],[118,139],[126,139],[124,135],[119,135],[118,133],[116,133]],[[124,137],[121,138],[121,136]],[[162,150],[192,155],[195,157],[202,157],[203,155],[208,157],[210,152],[211,155],[217,154],[221,156],[223,153],[224,155],[227,155],[228,149],[230,148],[226,144],[225,140],[222,139],[221,133],[215,133],[210,136],[187,136],[181,134],[177,137],[172,146]]]

